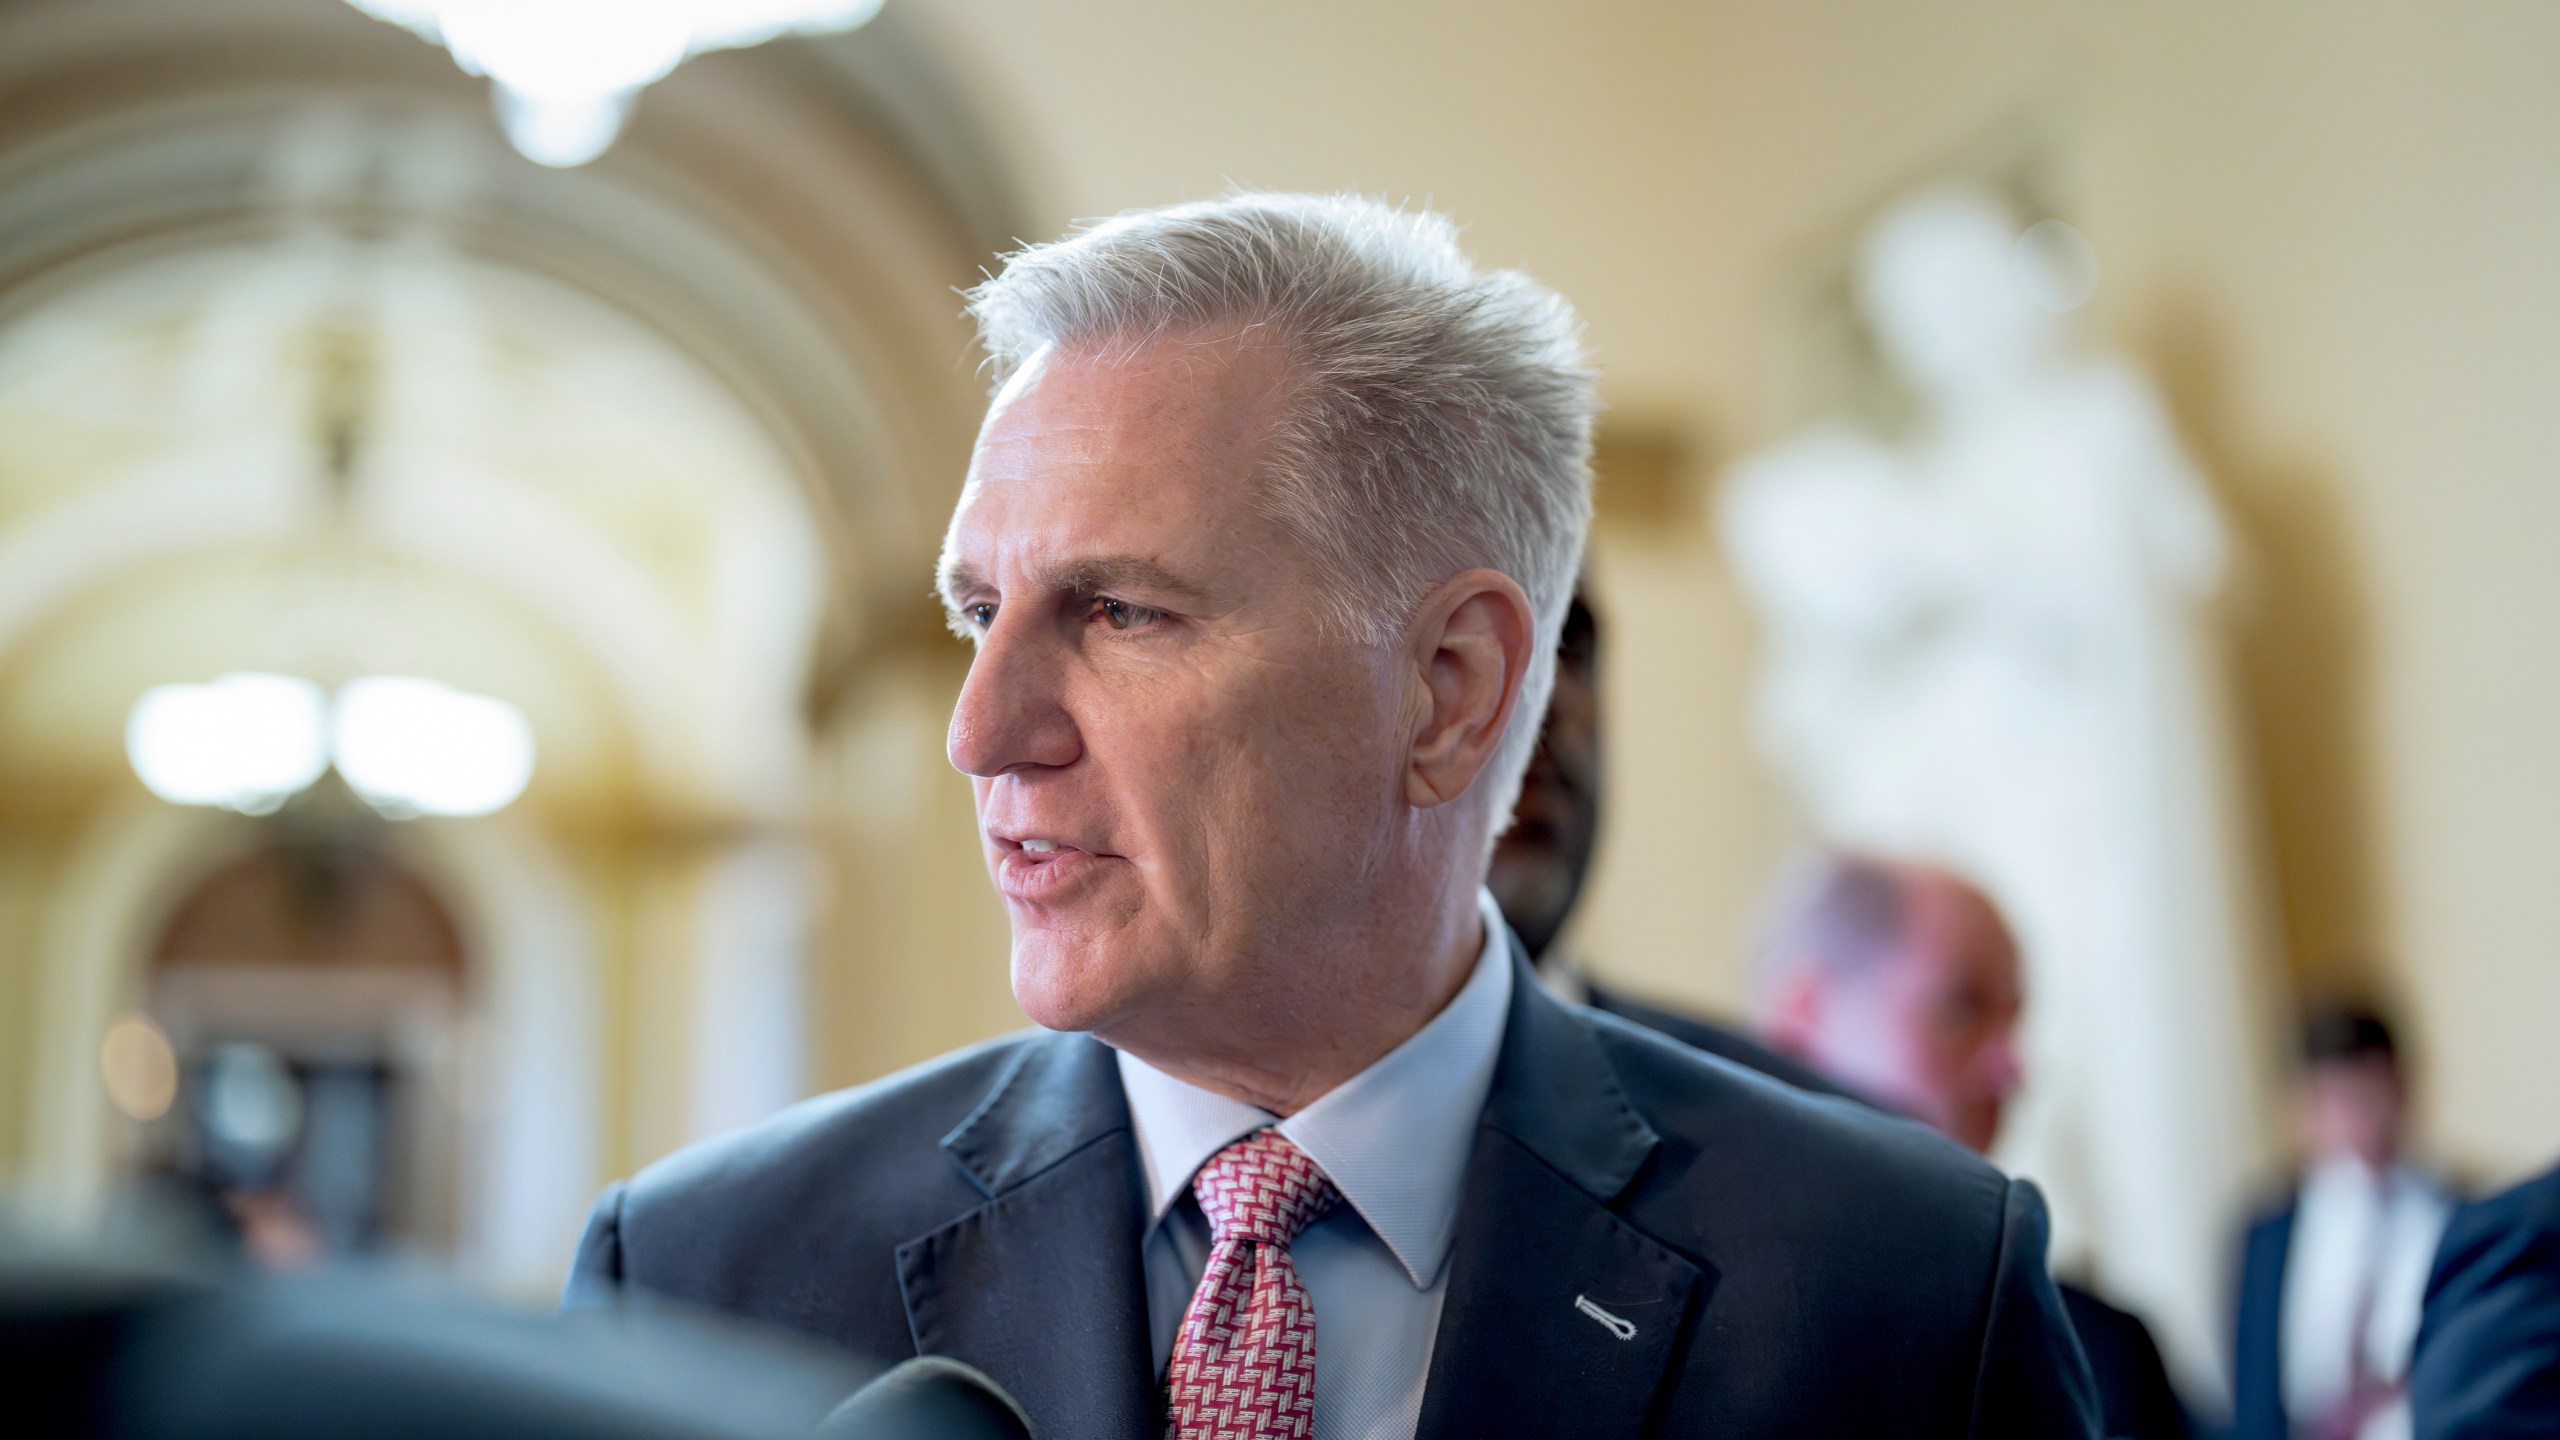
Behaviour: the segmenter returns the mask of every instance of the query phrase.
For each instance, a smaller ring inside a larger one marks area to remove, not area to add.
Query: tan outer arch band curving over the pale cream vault
[[[433,215],[660,331],[809,489],[829,607],[812,702],[932,628],[924,577],[983,410],[955,287],[1019,233],[1014,187],[922,26],[686,64],[596,164],[515,156],[486,85],[340,0],[0,0],[0,315],[136,249],[274,238],[279,133],[461,151],[466,184],[366,164],[323,210]],[[289,190],[289,187],[287,187]]]

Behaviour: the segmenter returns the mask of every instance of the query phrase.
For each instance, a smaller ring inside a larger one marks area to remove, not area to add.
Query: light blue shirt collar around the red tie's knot
[[[1147,1171],[1147,1215],[1160,1225],[1211,1156],[1277,1125],[1385,1240],[1416,1289],[1428,1289],[1457,1235],[1459,1191],[1475,1125],[1492,1089],[1510,1015],[1508,925],[1492,894],[1477,892],[1485,948],[1457,997],[1428,1025],[1341,1081],[1313,1104],[1277,1120],[1242,1099],[1119,1053],[1129,1122]]]

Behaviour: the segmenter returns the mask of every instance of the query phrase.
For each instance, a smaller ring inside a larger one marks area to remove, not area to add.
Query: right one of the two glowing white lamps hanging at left
[[[532,779],[532,725],[504,700],[379,674],[338,692],[330,753],[387,815],[489,815]]]

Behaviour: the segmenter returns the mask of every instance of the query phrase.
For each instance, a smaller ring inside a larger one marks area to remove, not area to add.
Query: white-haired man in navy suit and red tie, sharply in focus
[[[1011,256],[945,541],[1044,1030],[596,1204],[635,1286],[1042,1435],[2089,1435],[2043,1204],[1541,992],[1482,892],[1590,515],[1562,300],[1239,195]]]

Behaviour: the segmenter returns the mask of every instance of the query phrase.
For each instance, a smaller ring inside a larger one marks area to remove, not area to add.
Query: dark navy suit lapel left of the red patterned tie
[[[1044,1437],[1155,1432],[1142,1181],[1111,1053],[1027,1045],[942,1150],[988,1199],[899,1245],[916,1353],[978,1366]]]

